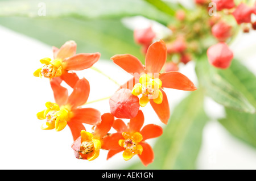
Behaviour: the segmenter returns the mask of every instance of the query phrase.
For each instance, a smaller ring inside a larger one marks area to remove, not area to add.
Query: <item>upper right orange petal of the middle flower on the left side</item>
[[[79,79],[77,81],[73,92],[68,97],[68,104],[71,105],[73,108],[82,106],[86,103],[90,93],[90,85],[89,82],[85,79]]]

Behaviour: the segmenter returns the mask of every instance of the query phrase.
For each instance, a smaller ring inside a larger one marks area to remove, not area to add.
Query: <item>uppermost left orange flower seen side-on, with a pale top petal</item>
[[[34,76],[50,79],[61,77],[69,86],[75,86],[79,78],[76,73],[68,71],[88,69],[100,58],[100,53],[76,54],[76,46],[75,41],[67,41],[60,49],[53,47],[53,60],[41,59],[40,62],[44,65],[34,72]]]

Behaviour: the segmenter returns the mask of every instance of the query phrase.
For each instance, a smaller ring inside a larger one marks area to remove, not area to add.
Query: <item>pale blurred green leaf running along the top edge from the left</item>
[[[141,15],[163,24],[171,20],[170,14],[143,0],[8,0],[0,1],[0,16],[38,17],[44,7],[47,17],[106,19]]]

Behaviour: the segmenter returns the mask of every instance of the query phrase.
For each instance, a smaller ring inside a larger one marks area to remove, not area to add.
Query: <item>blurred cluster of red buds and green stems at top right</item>
[[[237,32],[256,29],[251,19],[256,14],[256,3],[234,0],[194,0],[196,10],[180,9],[175,20],[167,27],[172,31],[164,37],[167,44],[165,71],[177,71],[180,64],[187,64],[193,57],[207,53],[209,63],[215,68],[229,68],[233,52],[229,43]],[[146,54],[148,42],[154,40],[156,32],[151,27],[134,31],[135,42],[143,46]]]

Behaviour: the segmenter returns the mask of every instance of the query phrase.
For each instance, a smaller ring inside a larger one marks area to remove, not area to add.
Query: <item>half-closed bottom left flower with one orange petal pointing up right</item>
[[[114,116],[105,113],[101,116],[101,122],[95,127],[93,133],[82,130],[81,136],[71,145],[77,159],[93,161],[100,154],[102,138],[108,134],[114,123]]]

